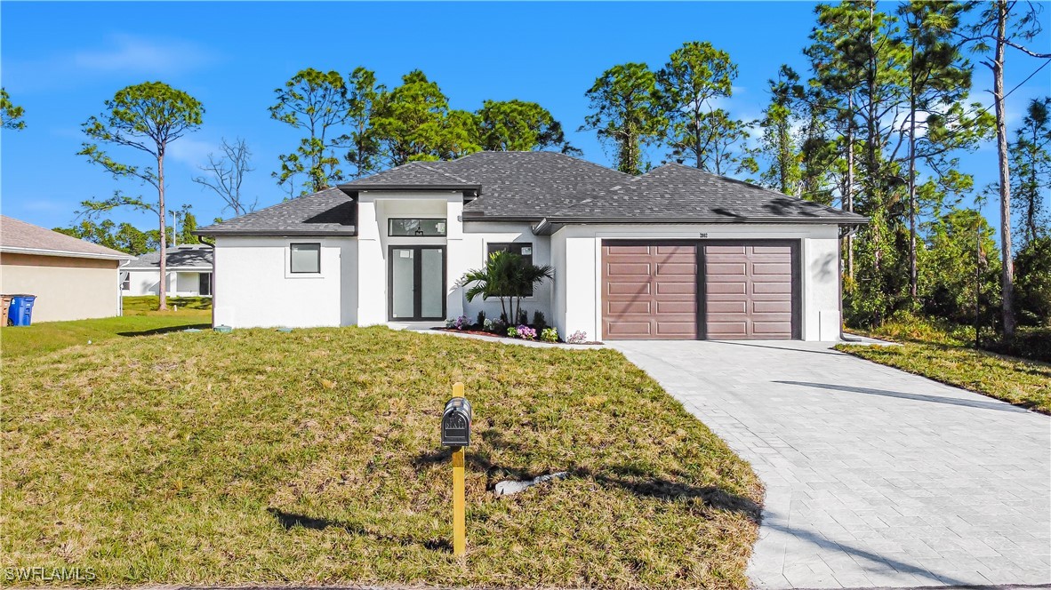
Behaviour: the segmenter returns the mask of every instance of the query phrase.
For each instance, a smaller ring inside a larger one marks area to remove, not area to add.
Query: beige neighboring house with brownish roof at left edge
[[[121,315],[119,267],[132,257],[0,215],[0,293],[36,295],[34,323]]]

